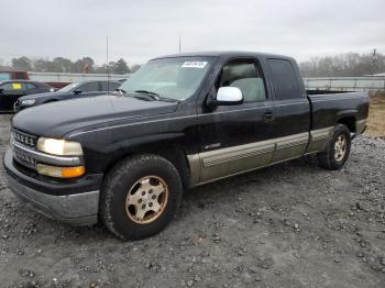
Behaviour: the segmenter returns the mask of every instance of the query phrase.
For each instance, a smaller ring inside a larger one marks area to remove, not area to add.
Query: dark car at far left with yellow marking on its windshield
[[[0,82],[0,112],[12,112],[14,102],[20,97],[52,92],[51,86],[29,80],[8,80]]]

